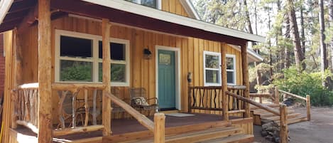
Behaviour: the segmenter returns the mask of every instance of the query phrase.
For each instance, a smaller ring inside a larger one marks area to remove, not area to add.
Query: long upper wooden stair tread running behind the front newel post
[[[225,134],[224,134],[225,133]],[[241,134],[243,133],[243,129],[240,127],[217,127],[212,129],[204,129],[195,132],[187,132],[182,134],[177,134],[173,136],[165,137],[165,142],[177,142],[182,139],[192,139],[192,138],[200,138],[202,139],[215,139],[219,137],[228,137],[234,134]],[[136,142],[136,143],[148,143],[153,142],[153,138],[143,139],[143,140],[133,140],[129,142]],[[189,141],[190,142],[190,141]]]

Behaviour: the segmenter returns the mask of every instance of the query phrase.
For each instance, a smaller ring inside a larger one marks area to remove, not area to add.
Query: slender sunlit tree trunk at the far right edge
[[[327,63],[327,53],[326,53],[326,44],[325,41],[325,23],[324,23],[324,2],[323,0],[319,0],[318,4],[320,11],[319,11],[319,23],[320,23],[320,70],[322,73],[325,72],[325,70],[328,68]],[[322,85],[324,87],[328,87],[328,79],[325,79],[322,81]]]

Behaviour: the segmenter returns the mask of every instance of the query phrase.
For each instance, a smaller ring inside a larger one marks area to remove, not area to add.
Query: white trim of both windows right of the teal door
[[[206,68],[206,56],[205,55],[217,55],[219,57],[219,83],[206,83],[206,70],[217,70],[217,68]],[[236,85],[236,55],[226,54],[226,58],[233,58],[234,60],[234,69],[227,69],[226,71],[234,72],[234,83],[227,83],[227,85]],[[221,86],[222,85],[222,63],[221,63],[221,53],[204,51],[203,55],[204,63],[204,86]],[[226,61],[226,60],[225,60]]]

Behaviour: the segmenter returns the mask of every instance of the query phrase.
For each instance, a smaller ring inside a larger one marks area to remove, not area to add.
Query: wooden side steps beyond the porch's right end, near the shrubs
[[[275,110],[279,110],[278,104],[267,104],[269,107],[273,107]],[[263,120],[271,120],[278,125],[280,125],[280,116],[274,115],[271,112],[268,112],[263,109],[259,109],[258,107],[251,107],[251,115],[253,117],[253,124],[254,125],[261,125]],[[307,121],[307,117],[295,112],[295,110],[288,109],[288,124],[293,124],[297,122],[304,122]]]

